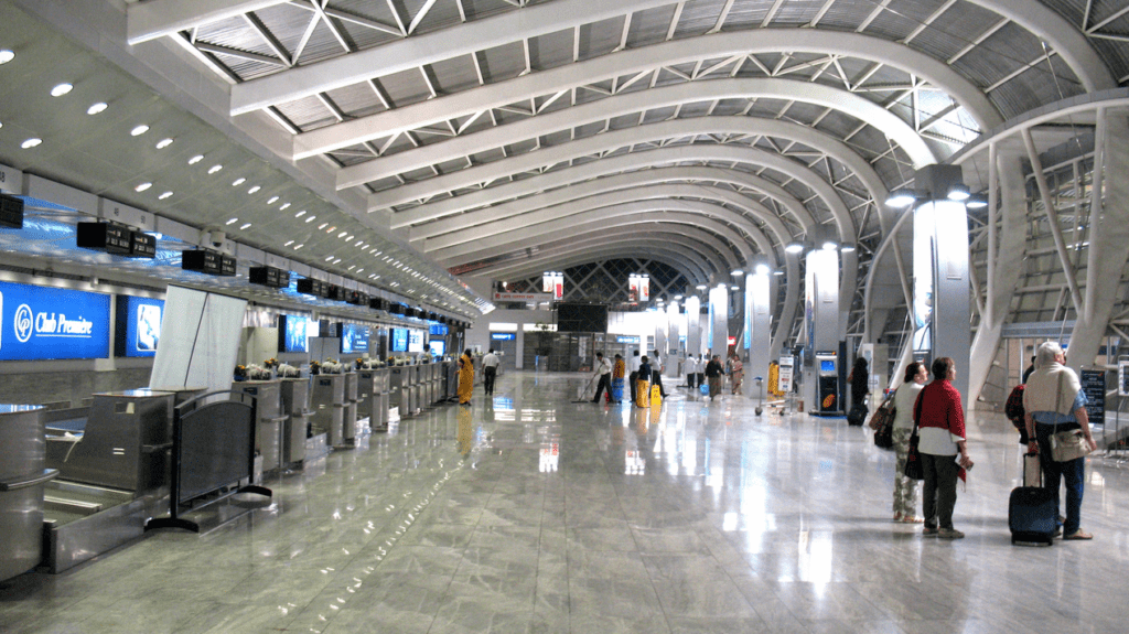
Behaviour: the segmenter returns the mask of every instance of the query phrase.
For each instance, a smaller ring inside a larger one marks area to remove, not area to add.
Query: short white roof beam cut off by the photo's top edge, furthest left
[[[289,0],[146,0],[125,7],[125,42],[133,46],[194,26],[259,11]]]

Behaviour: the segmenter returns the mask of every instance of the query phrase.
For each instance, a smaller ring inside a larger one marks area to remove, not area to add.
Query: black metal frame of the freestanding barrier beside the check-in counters
[[[227,399],[215,400],[215,398],[218,396],[227,396]],[[213,402],[207,403],[207,400],[213,400]],[[247,460],[246,473],[245,474],[240,473],[239,477],[237,477],[234,481],[225,479],[224,482],[215,482],[207,491],[203,492],[195,491],[189,494],[186,497],[182,497],[182,487],[183,487],[182,467],[184,466],[183,457],[185,449],[184,447],[185,422],[187,421],[189,423],[191,423],[191,421],[196,416],[207,416],[210,408],[229,407],[231,405],[246,406],[247,410],[250,411],[246,419],[246,424],[250,428],[250,435],[248,435],[250,441],[247,443],[247,451],[246,451],[246,460]],[[145,529],[147,531],[157,528],[181,528],[184,530],[191,530],[193,532],[200,532],[199,523],[181,517],[181,507],[186,502],[191,502],[192,500],[198,500],[200,497],[203,497],[204,495],[210,495],[221,488],[229,487],[233,485],[238,485],[239,481],[242,481],[244,477],[246,477],[248,482],[251,481],[252,477],[254,477],[255,426],[256,426],[255,422],[256,422],[257,410],[259,410],[257,398],[255,396],[235,390],[219,390],[219,391],[202,394],[200,396],[196,396],[195,398],[185,400],[184,403],[177,405],[173,410],[173,459],[170,466],[172,485],[168,493],[169,514],[167,518],[150,519],[148,522],[146,522]],[[218,502],[236,493],[257,493],[261,495],[265,495],[266,497],[271,497],[273,495],[270,488],[254,484],[248,484],[245,486],[238,486],[238,488],[230,491],[226,495],[221,495],[216,500],[209,501],[208,503],[201,504],[200,507],[195,508],[207,507],[208,504]]]

